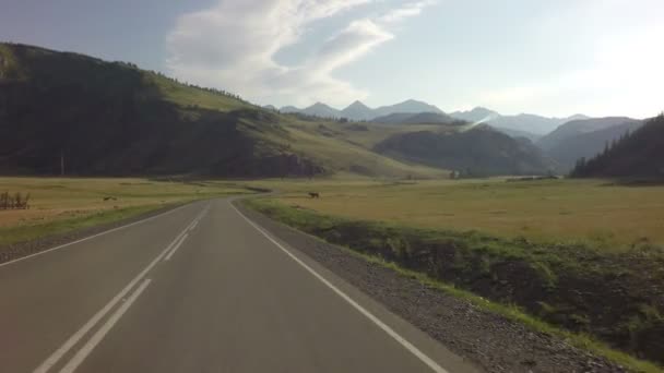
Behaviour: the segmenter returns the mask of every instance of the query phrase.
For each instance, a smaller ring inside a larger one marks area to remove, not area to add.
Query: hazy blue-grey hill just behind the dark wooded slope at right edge
[[[558,161],[565,170],[569,170],[578,159],[590,159],[602,153],[606,144],[610,144],[626,133],[637,130],[642,123],[640,120],[629,118],[606,118],[605,121],[602,119],[572,121],[559,128],[559,130],[566,131],[564,136],[552,142],[550,137],[560,134],[556,130],[547,136],[548,139],[542,139],[536,145],[541,148],[546,146],[545,154]],[[571,128],[567,129],[570,124]]]

